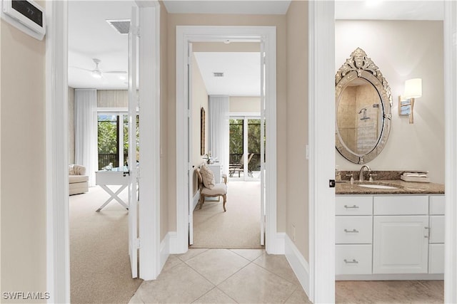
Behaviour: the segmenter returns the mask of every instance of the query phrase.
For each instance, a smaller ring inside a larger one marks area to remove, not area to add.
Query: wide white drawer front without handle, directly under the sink
[[[428,196],[374,196],[374,215],[426,215]]]

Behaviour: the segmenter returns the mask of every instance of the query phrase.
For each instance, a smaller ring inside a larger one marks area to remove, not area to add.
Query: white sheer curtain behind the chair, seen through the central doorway
[[[208,150],[229,173],[229,96],[210,95],[208,101]]]

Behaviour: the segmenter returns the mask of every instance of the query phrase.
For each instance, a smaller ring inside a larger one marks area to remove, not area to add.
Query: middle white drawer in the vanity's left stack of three
[[[336,216],[335,243],[371,243],[372,216]]]

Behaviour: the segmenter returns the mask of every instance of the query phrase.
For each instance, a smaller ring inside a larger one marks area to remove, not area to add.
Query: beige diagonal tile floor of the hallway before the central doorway
[[[263,249],[189,249],[129,303],[311,303],[285,256]]]

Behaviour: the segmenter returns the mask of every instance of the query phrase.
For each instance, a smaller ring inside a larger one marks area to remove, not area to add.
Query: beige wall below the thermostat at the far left
[[[0,22],[0,269],[8,303],[4,292],[46,292],[46,41]]]

